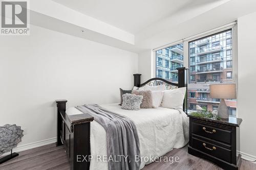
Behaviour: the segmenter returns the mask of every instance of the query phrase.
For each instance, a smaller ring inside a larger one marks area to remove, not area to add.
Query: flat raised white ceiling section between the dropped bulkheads
[[[53,0],[129,33],[137,33],[193,4],[212,0]],[[223,1],[215,0],[214,2]]]

